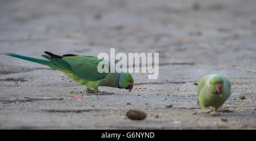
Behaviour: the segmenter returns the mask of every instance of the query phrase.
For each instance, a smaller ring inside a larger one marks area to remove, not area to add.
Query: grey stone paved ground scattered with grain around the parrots
[[[1,55],[1,129],[256,128],[254,0],[0,3],[0,52],[42,58],[43,51],[98,55],[114,47],[160,59],[157,80],[134,73],[129,93],[101,87],[106,93],[88,94],[57,70]],[[193,84],[209,73],[232,82],[221,107],[229,110],[215,116],[200,113]],[[131,121],[129,109],[147,118]]]

